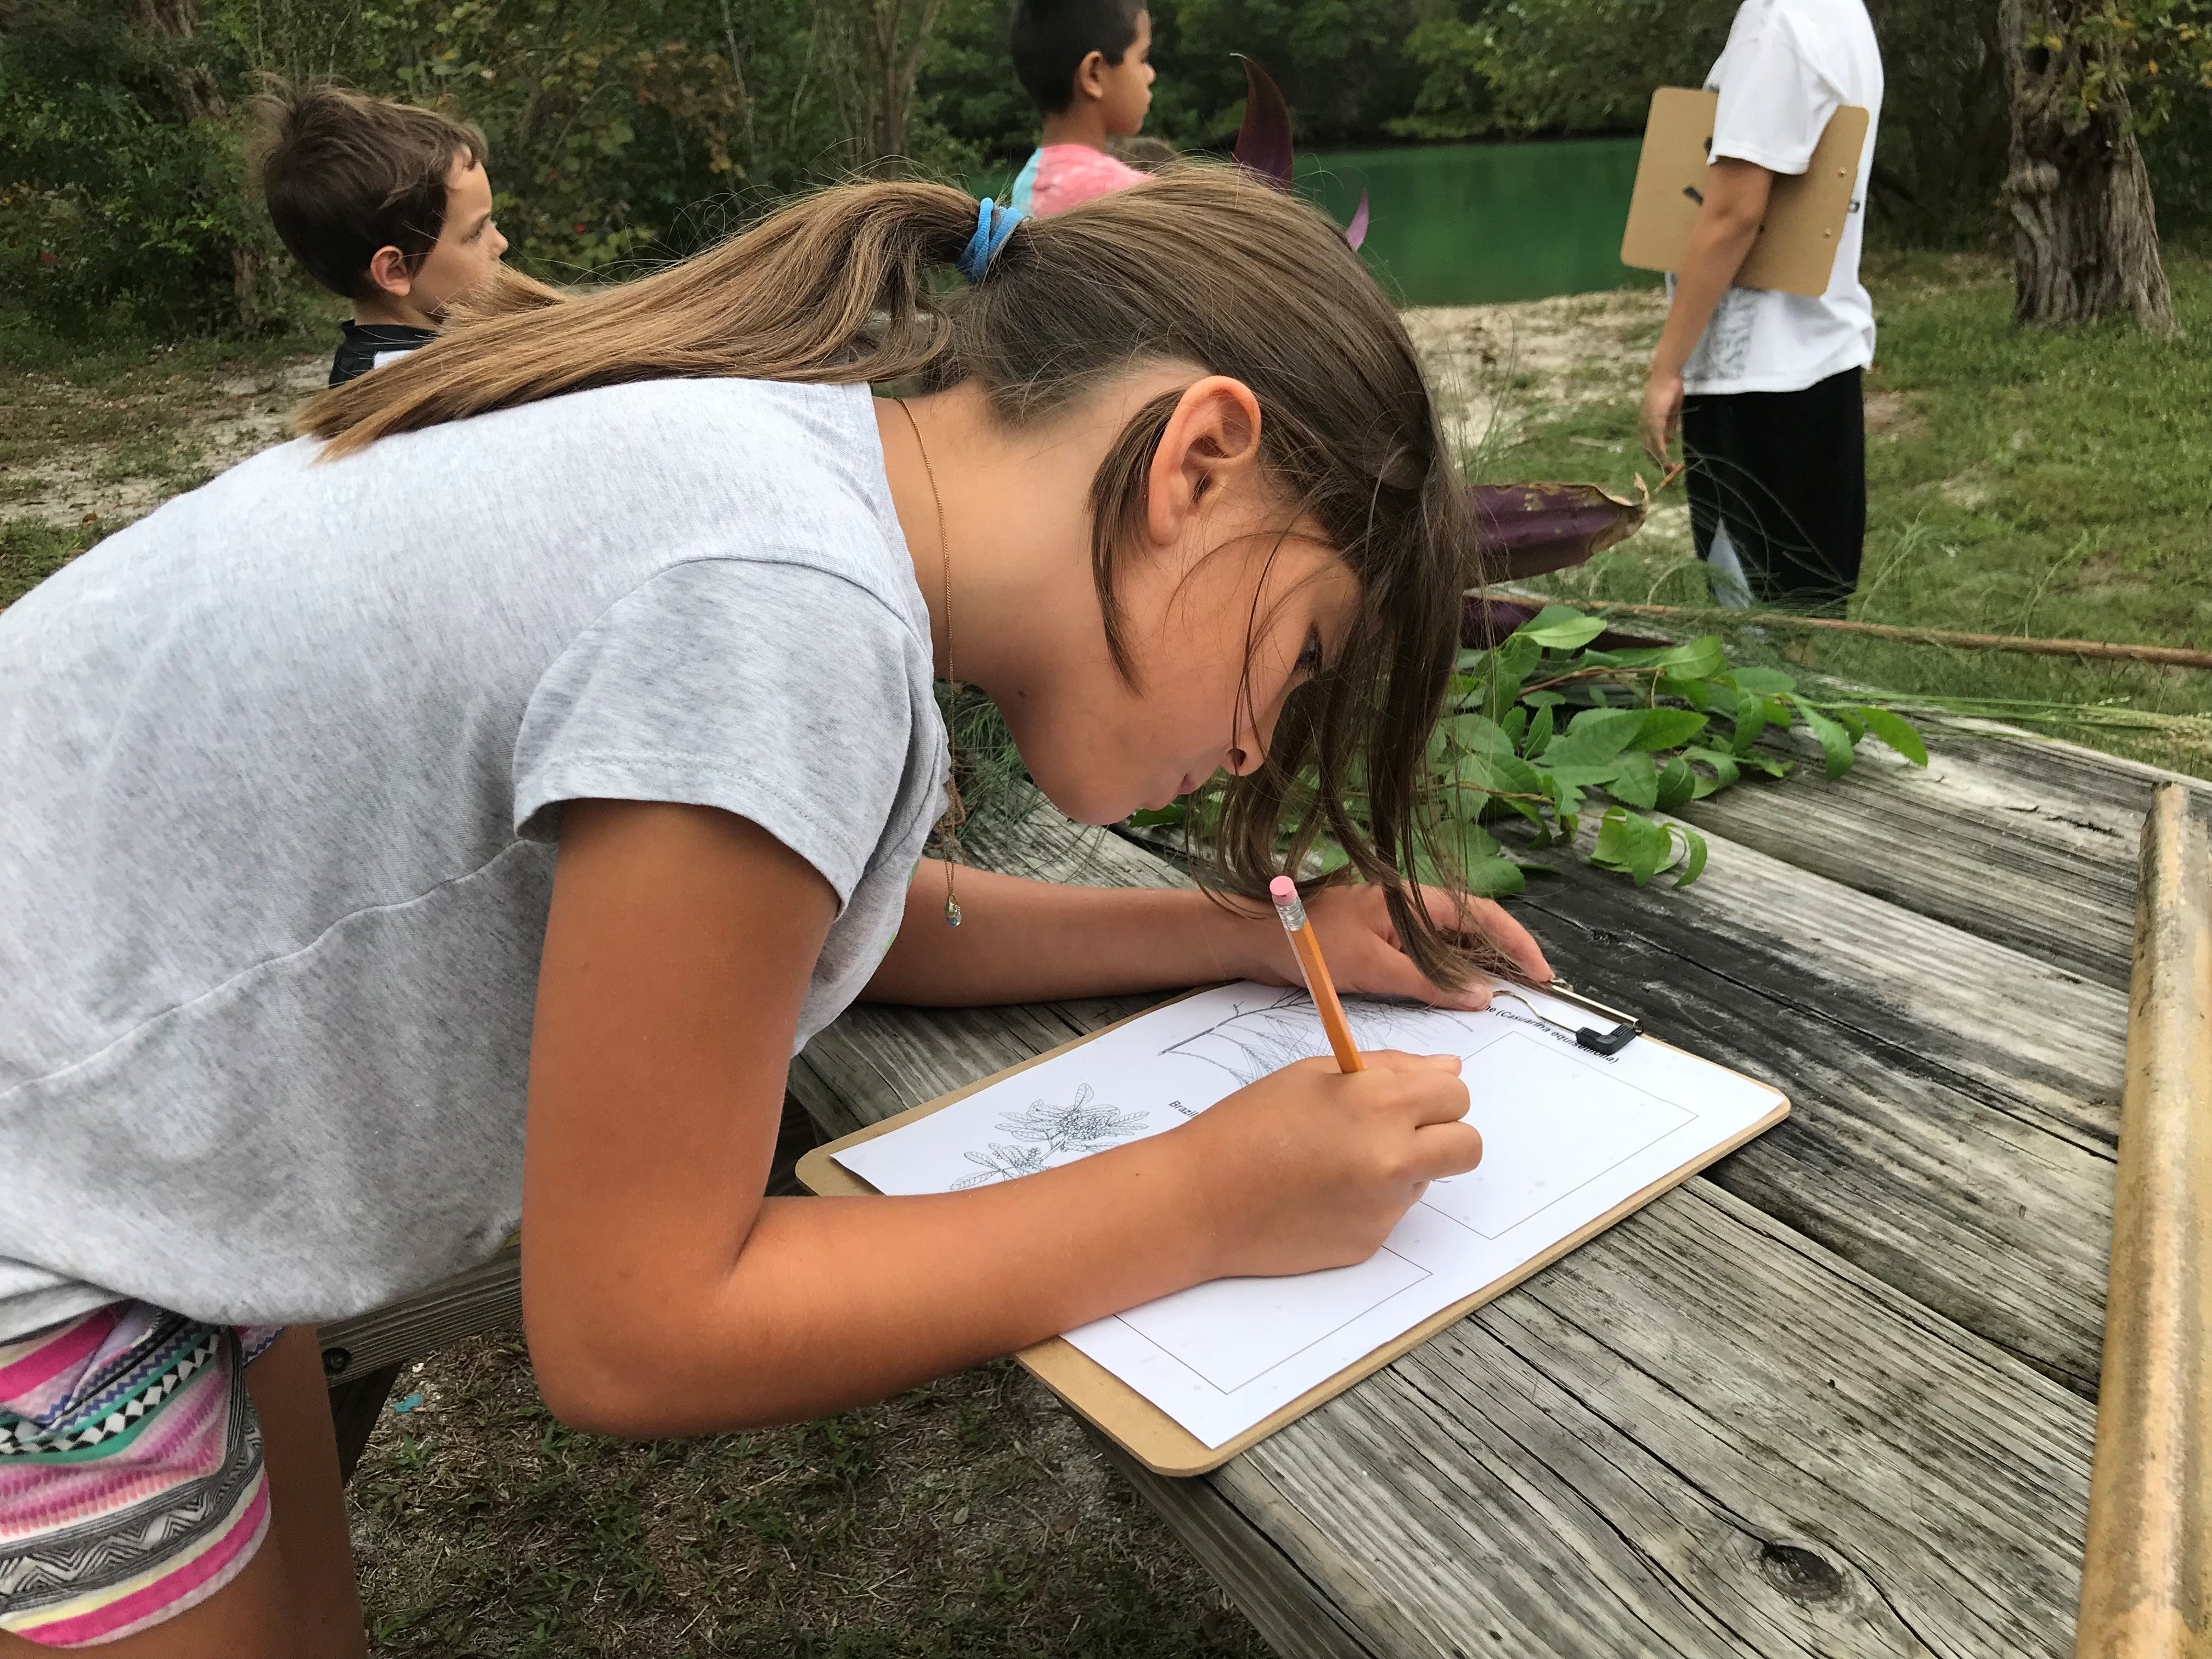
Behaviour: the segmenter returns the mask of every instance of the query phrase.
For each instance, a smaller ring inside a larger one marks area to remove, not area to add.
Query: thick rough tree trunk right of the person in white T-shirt
[[[2079,108],[2084,46],[2070,24],[2086,0],[2002,0],[2013,82],[2013,148],[2004,206],[2013,219],[2013,316],[2086,323],[2132,312],[2170,334],[2172,294],[2159,263],[2150,177],[2115,84]],[[2053,27],[2055,24],[2055,27]],[[2057,33],[2057,51],[2044,35]]]

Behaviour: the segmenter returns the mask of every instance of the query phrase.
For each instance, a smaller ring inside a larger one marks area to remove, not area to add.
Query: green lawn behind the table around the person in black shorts
[[[2172,252],[2181,334],[2011,321],[1991,261],[1889,259],[1869,274],[1867,557],[1851,615],[1960,633],[2212,646],[2212,261]],[[1650,465],[1632,400],[1533,420],[1491,478],[1628,487]],[[1677,498],[1679,500],[1679,498]],[[1705,604],[1686,531],[1548,580],[1566,599]],[[1907,695],[2212,714],[2212,675],[1814,637],[1796,659]],[[2090,717],[2099,719],[2099,717]],[[2112,719],[2112,717],[2104,717]],[[2194,721],[2062,734],[2212,774]]]

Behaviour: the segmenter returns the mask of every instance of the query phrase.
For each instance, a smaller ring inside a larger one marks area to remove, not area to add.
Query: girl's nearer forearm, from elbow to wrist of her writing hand
[[[1183,1290],[1217,1254],[1188,1164],[1168,1133],[975,1192],[770,1199],[734,1261],[666,1263],[549,1405],[639,1438],[794,1422]]]

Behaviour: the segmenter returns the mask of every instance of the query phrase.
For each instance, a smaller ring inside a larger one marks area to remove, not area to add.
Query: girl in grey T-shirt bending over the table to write
[[[1265,905],[920,860],[933,677],[1075,818],[1225,774],[1237,891],[1332,832],[1345,989],[1548,978],[1402,874],[1469,524],[1303,204],[830,190],[303,427],[0,617],[0,1652],[363,1652],[312,1325],[518,1219],[546,1402],[666,1436],[1360,1261],[1480,1157],[1455,1060],[1376,1055],[1022,1181],[761,1197],[856,998],[1294,975]]]

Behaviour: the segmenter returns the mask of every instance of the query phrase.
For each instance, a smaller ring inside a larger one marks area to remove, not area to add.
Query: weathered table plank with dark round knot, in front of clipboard
[[[2062,1655],[2090,1409],[1692,1181],[1208,1478],[1391,1655]]]

